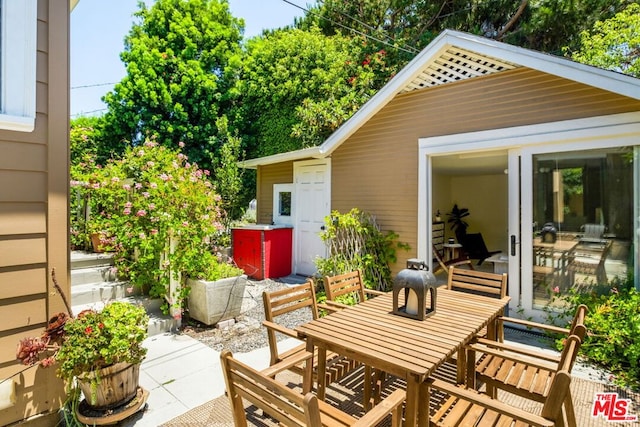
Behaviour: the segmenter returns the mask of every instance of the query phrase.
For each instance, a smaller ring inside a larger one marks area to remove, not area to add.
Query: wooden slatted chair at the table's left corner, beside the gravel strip
[[[278,347],[278,334],[291,338],[298,338],[298,334],[290,327],[281,323],[286,315],[296,310],[308,310],[310,317],[318,318],[318,306],[316,303],[316,293],[313,281],[307,280],[301,285],[291,286],[276,291],[264,291],[262,293],[262,302],[264,304],[265,320],[262,324],[267,329],[267,338],[269,340],[270,365],[281,363],[288,360],[290,363],[289,370],[299,374],[305,374],[306,367],[306,343],[301,342],[286,351],[280,351]],[[312,368],[314,381],[317,379],[317,361],[318,357],[313,358],[314,366]],[[337,381],[347,373],[356,369],[360,364],[353,359],[340,356],[336,353],[327,352],[326,364],[326,384]],[[310,382],[309,382],[310,383]],[[310,391],[310,390],[305,390]]]

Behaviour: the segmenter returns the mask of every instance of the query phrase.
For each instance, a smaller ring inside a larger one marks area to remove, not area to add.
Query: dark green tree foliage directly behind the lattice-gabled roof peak
[[[394,46],[399,60],[426,46],[445,29],[479,34],[522,47],[560,53],[577,35],[632,0],[323,0],[311,21],[327,34],[367,34]]]

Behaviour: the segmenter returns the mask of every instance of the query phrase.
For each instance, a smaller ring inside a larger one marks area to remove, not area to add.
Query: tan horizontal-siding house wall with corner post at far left
[[[39,0],[36,121],[33,132],[0,130],[0,380],[16,382],[17,402],[0,425],[31,419],[55,425],[64,401],[55,369],[15,360],[21,338],[41,335],[64,311],[50,271],[69,295],[69,0]]]

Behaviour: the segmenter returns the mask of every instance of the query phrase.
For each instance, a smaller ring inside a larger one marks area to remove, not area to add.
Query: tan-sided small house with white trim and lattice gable
[[[411,250],[397,272],[407,258],[431,260],[435,214],[457,203],[508,259],[512,305],[536,317],[561,283],[532,279],[543,223],[576,237],[606,222],[624,268],[637,269],[639,136],[639,79],[447,30],[322,145],[243,167],[257,169],[258,222],[278,217],[281,194],[292,200],[295,273],[313,275],[326,255],[319,232],[331,210],[357,207],[398,233]],[[565,200],[568,189],[582,199]]]

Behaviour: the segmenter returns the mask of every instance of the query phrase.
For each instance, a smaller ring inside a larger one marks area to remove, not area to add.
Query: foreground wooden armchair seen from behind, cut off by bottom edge
[[[306,357],[311,357],[306,353]],[[255,369],[233,358],[229,350],[220,354],[227,396],[236,427],[247,426],[243,398],[284,426],[373,426],[391,414],[391,425],[400,427],[405,392],[396,390],[383,403],[360,419],[319,401],[313,393],[300,394],[272,377],[281,369],[273,365],[265,371]],[[288,369],[285,366],[282,369]]]

